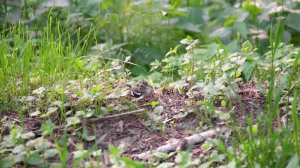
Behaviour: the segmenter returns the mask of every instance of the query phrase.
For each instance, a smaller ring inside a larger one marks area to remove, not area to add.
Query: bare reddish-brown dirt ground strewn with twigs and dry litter
[[[233,105],[236,106],[233,114],[235,118],[241,124],[245,124],[248,114],[253,114],[256,116],[259,112],[262,112],[264,107],[264,96],[263,94],[255,88],[255,84],[241,84],[237,89],[237,94],[241,98],[243,107],[238,103],[237,99],[233,99]],[[195,99],[201,99],[198,96]],[[218,127],[220,125],[220,120],[218,118],[211,118],[213,125],[206,124],[205,120],[201,119],[199,115],[195,112],[185,113],[187,109],[187,103],[189,102],[189,97],[186,94],[173,93],[170,90],[164,90],[160,93],[156,93],[154,96],[150,97],[147,101],[156,100],[159,101],[160,106],[163,106],[163,112],[159,114],[161,116],[161,121],[166,121],[164,134],[160,132],[160,129],[153,131],[150,126],[146,126],[145,115],[127,115],[123,117],[109,119],[96,125],[86,125],[90,134],[94,134],[94,129],[96,128],[96,139],[103,139],[99,143],[99,149],[106,154],[109,153],[108,145],[113,144],[118,146],[119,144],[124,144],[125,148],[122,156],[134,158],[135,154],[143,153],[150,149],[156,149],[157,147],[166,144],[167,140],[170,139],[182,139],[191,136],[196,133],[201,133],[205,130],[199,129],[199,122],[203,122],[207,125],[206,130],[212,129],[213,127]],[[140,102],[138,102],[139,104]],[[143,104],[144,102],[142,102]],[[221,107],[221,101],[215,101],[214,105],[218,110],[223,110]],[[190,107],[190,106],[189,106]],[[145,107],[144,107],[145,108]],[[149,113],[153,113],[153,109],[150,106],[146,106]],[[201,112],[196,105],[193,108],[198,112]],[[245,112],[242,112],[245,109]],[[0,114],[0,118],[3,118],[5,114]],[[174,117],[176,116],[176,117]],[[10,120],[14,120],[16,123],[20,124],[19,115],[17,113],[10,113],[8,115]],[[32,118],[29,116],[23,116],[24,126],[26,130],[33,131],[38,130],[41,123],[44,122],[37,118]],[[51,114],[51,120],[55,124],[59,124],[56,113]],[[173,119],[172,119],[173,118]],[[159,128],[158,122],[153,122]],[[5,133],[2,133],[5,135]],[[7,134],[7,133],[6,133]],[[2,135],[3,136],[3,135]],[[62,132],[60,135],[62,136]],[[84,143],[84,147],[88,149],[95,141],[84,141],[83,139],[72,138],[74,143],[69,143],[68,150],[71,155],[75,151],[76,143]],[[202,149],[199,145],[194,146],[193,155],[199,155]],[[101,157],[100,161],[106,165],[109,165],[108,155]],[[69,157],[72,158],[72,157]],[[58,159],[58,158],[57,158]],[[57,160],[55,159],[55,160]],[[136,158],[134,158],[136,159]],[[71,162],[72,159],[70,159]],[[59,162],[59,160],[57,160]]]

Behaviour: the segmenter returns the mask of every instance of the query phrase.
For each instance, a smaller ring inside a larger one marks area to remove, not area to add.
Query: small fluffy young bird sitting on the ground
[[[152,87],[144,79],[130,89],[131,96],[137,98],[136,100],[146,99],[152,95]]]

